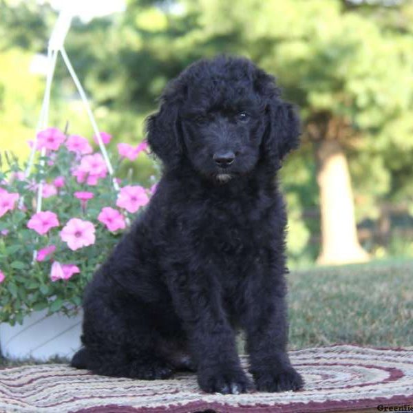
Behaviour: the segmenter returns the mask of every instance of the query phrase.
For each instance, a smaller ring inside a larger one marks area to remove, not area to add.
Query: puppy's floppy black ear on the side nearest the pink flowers
[[[170,86],[160,98],[159,111],[145,121],[149,146],[167,167],[176,167],[183,154],[180,101],[178,91]]]

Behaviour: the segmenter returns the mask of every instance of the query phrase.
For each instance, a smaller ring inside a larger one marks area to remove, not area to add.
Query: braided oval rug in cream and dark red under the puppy
[[[194,374],[136,381],[61,364],[6,368],[0,370],[0,412],[310,413],[380,411],[379,405],[413,411],[413,350],[331,346],[290,354],[306,381],[300,392],[204,394]],[[242,361],[246,367],[246,357]]]

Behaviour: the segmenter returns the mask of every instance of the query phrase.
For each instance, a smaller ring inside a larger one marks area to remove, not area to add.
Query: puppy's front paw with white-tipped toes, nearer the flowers
[[[207,393],[240,394],[251,389],[251,382],[240,369],[202,370],[198,372],[200,388]]]

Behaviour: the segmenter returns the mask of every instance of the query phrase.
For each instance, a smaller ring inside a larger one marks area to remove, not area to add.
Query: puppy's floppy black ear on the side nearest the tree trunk
[[[255,88],[266,104],[264,156],[278,164],[286,154],[299,145],[300,122],[297,109],[279,97],[275,78],[257,69]]]

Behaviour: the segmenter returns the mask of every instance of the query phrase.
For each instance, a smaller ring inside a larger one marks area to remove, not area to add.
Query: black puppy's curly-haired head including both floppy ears
[[[227,182],[266,163],[275,169],[299,144],[299,120],[273,76],[248,59],[220,56],[189,66],[169,83],[147,139],[166,167],[190,162]]]

